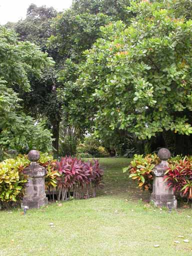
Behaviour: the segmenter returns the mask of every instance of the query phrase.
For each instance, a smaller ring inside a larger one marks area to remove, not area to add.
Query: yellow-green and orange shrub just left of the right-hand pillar
[[[129,178],[136,179],[138,187],[145,190],[152,190],[153,168],[159,162],[156,154],[143,155],[135,154],[128,167],[123,168],[123,172],[129,170]]]

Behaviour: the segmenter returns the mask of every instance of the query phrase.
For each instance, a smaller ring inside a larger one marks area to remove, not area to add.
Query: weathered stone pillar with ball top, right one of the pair
[[[167,159],[170,157],[170,151],[166,148],[161,148],[157,155],[161,162],[154,167],[151,202],[155,206],[165,206],[169,209],[175,209],[177,200],[175,199],[173,189],[167,186],[167,181],[164,181],[163,177],[168,167]]]

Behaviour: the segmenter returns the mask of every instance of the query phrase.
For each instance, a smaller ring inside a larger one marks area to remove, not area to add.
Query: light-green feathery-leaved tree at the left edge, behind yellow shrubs
[[[51,134],[42,123],[24,114],[20,91],[30,91],[30,77],[39,78],[53,61],[30,42],[19,42],[0,26],[0,149],[51,149]]]

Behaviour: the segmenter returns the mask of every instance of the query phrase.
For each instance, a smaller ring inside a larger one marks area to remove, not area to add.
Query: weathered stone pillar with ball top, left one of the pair
[[[37,150],[30,150],[28,153],[28,159],[31,163],[23,170],[28,175],[28,182],[25,184],[25,194],[21,203],[22,208],[24,206],[39,208],[48,203],[44,185],[45,168],[36,162],[39,157],[40,154]]]

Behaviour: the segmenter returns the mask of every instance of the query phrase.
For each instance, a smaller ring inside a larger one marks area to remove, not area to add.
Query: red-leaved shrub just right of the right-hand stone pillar
[[[176,157],[172,159],[164,180],[174,192],[179,192],[182,197],[192,199],[192,157]]]

